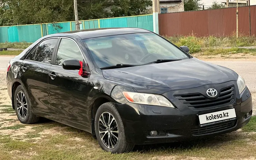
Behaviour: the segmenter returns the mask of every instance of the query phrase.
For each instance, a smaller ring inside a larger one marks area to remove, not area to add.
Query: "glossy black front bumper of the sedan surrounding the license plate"
[[[155,144],[185,141],[238,130],[251,119],[251,115],[248,117],[245,115],[248,112],[252,113],[252,97],[246,87],[241,97],[238,95],[231,105],[211,109],[191,110],[185,105],[176,106],[178,109],[173,109],[129,102],[124,105],[115,104],[115,106],[122,118],[128,143]],[[207,134],[195,135],[192,133],[191,130],[200,128],[198,115],[231,108],[235,108],[237,117],[229,128]],[[166,135],[150,136],[149,132],[152,130],[163,131]]]

